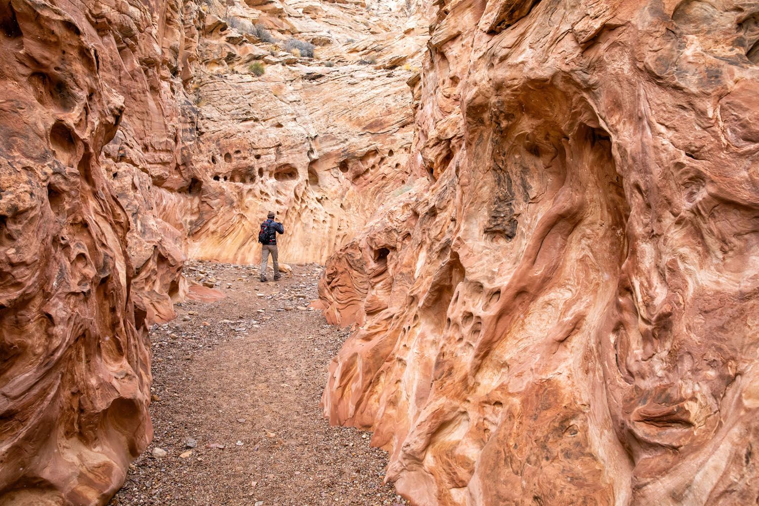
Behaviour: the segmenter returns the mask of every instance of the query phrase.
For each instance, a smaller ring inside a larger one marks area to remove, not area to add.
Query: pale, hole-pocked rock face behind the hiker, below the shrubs
[[[259,225],[272,210],[285,224],[281,258],[323,262],[408,179],[413,116],[405,79],[357,65],[305,76],[271,68],[260,80],[201,81],[208,104],[197,148],[204,156],[195,157],[202,188],[187,222],[190,256],[257,262]]]

